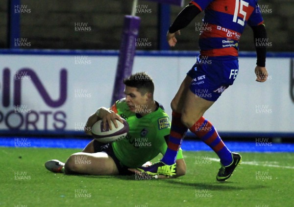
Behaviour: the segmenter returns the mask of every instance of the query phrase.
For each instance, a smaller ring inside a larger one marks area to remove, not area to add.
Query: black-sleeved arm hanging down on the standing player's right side
[[[266,69],[267,47],[265,41],[267,40],[267,31],[264,24],[251,26],[254,36],[254,45],[256,49],[257,62],[255,67],[256,81],[265,82],[268,78],[268,71]]]

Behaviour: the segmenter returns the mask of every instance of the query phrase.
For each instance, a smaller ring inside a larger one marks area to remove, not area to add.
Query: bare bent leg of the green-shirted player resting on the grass
[[[114,160],[103,152],[74,153],[65,163],[66,174],[118,175]]]

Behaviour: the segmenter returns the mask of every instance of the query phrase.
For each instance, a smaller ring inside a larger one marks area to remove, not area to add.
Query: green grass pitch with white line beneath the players
[[[241,153],[232,177],[217,182],[214,152],[185,151],[187,174],[176,179],[69,176],[44,163],[77,149],[0,148],[2,207],[293,207],[294,154]],[[158,159],[157,159],[158,160]]]

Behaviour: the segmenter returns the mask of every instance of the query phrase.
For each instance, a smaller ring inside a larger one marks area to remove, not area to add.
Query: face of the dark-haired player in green
[[[147,93],[142,95],[135,87],[125,86],[124,89],[125,101],[130,111],[139,111],[138,109],[145,109],[147,106]]]

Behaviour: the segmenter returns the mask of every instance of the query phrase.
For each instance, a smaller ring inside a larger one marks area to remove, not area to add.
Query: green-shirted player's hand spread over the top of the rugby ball
[[[117,120],[123,123],[123,120],[120,115],[116,114],[114,111],[101,107],[99,109],[99,117],[103,121],[103,129],[106,129],[106,122],[108,123],[109,129],[112,130],[111,121],[113,122],[115,128],[118,128]]]

